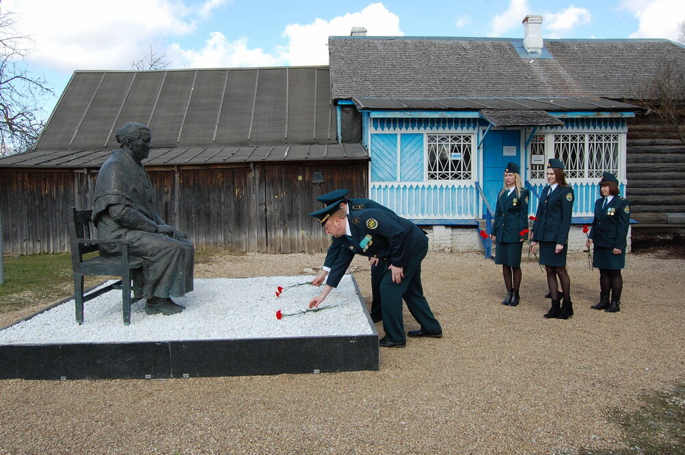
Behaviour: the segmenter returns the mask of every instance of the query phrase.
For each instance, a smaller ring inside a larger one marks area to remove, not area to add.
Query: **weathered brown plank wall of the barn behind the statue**
[[[315,253],[329,238],[308,216],[316,197],[336,188],[368,195],[367,162],[149,167],[155,210],[197,249]],[[314,172],[323,184],[313,184]],[[92,207],[97,169],[0,171],[5,253],[69,251],[66,208]]]

